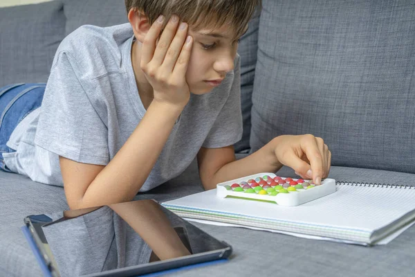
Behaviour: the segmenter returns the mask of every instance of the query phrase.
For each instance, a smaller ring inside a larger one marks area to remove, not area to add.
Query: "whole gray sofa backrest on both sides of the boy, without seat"
[[[0,87],[46,82],[57,46],[77,27],[125,22],[120,0],[0,8]],[[237,152],[311,133],[329,145],[335,166],[415,172],[412,1],[264,0],[238,52]]]

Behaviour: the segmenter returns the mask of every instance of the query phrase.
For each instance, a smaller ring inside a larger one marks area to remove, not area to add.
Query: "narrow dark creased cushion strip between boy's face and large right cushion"
[[[242,139],[235,143],[235,152],[248,152],[250,149],[252,89],[257,64],[259,16],[258,8],[248,23],[248,31],[240,39],[238,53],[241,56],[241,111],[243,120]]]

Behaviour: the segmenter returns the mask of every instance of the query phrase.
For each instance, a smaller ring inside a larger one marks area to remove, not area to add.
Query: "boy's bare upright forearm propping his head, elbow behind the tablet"
[[[89,185],[81,206],[131,201],[149,176],[182,110],[153,101],[127,142]]]

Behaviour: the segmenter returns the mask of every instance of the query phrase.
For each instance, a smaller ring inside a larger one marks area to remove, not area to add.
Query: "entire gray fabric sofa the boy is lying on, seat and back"
[[[126,21],[121,0],[0,8],[0,87],[46,82],[59,42],[78,26]],[[237,157],[280,134],[312,133],[333,152],[333,179],[415,184],[414,1],[265,0],[239,54],[244,129]],[[289,168],[277,174],[295,177]],[[192,163],[136,199],[163,202],[201,190]],[[0,276],[42,276],[20,230],[23,218],[67,208],[62,188],[0,172]],[[173,275],[414,275],[414,226],[385,246],[360,247],[195,225],[231,244],[232,258]]]

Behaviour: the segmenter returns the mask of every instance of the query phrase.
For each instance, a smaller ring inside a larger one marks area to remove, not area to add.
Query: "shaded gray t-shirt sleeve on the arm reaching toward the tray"
[[[233,145],[242,138],[240,60],[237,55],[234,62],[234,80],[228,99],[203,142],[204,148],[222,148]]]

